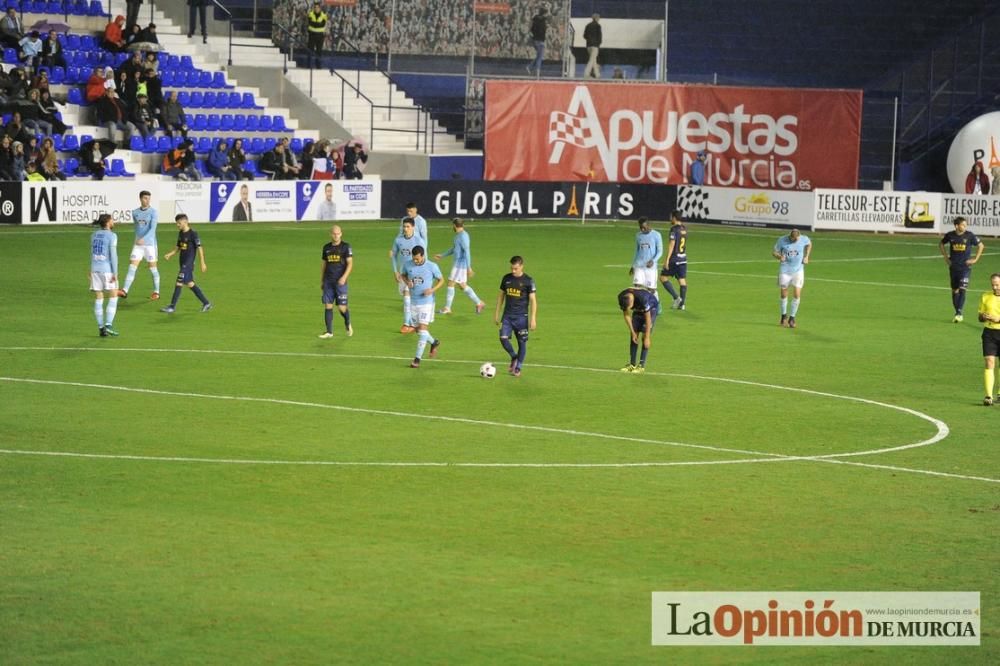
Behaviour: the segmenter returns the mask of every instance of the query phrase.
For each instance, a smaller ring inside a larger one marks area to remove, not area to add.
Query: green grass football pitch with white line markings
[[[398,222],[341,226],[354,335],[331,340],[327,224],[195,223],[214,309],[161,313],[176,260],[159,302],[143,264],[117,338],[91,228],[0,228],[0,662],[1000,662],[975,317],[997,239],[953,324],[937,238],[810,233],[791,330],[782,232],[689,225],[687,309],[632,375],[634,223],[469,222],[486,310],[459,291],[418,370]],[[451,242],[431,221],[430,253]],[[519,378],[492,314],[514,254],[538,287]],[[651,593],[706,590],[978,591],[981,645],[652,646]]]

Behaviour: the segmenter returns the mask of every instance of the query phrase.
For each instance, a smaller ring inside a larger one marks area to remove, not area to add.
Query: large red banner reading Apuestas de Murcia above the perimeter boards
[[[854,188],[860,90],[488,81],[487,180]]]

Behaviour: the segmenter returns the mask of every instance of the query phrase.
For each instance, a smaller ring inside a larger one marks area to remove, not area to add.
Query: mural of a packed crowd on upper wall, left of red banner
[[[495,4],[495,10],[487,9]],[[278,0],[274,21],[306,39],[306,16],[312,0]],[[476,10],[476,6],[479,10]],[[527,58],[535,49],[530,39],[531,19],[539,7],[548,8],[552,26],[565,25],[567,0],[482,0],[426,2],[426,0],[368,0],[327,7],[329,21],[325,51],[400,53],[414,55]],[[285,33],[275,31],[275,42],[284,45]],[[546,36],[550,58],[561,58],[566,31],[552,29]]]

